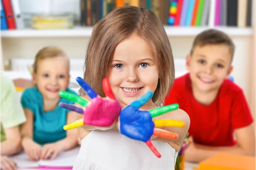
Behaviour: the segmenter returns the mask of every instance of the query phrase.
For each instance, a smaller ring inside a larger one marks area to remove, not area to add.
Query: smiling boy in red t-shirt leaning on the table
[[[255,156],[250,109],[242,89],[227,79],[234,51],[232,40],[221,31],[198,34],[186,57],[189,73],[176,78],[166,96],[165,105],[178,103],[190,117],[193,142],[186,161],[199,162],[221,152]]]

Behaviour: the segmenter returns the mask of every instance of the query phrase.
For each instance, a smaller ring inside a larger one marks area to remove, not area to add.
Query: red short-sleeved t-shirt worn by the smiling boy
[[[201,105],[194,98],[189,73],[175,79],[165,105],[178,103],[190,117],[189,135],[194,142],[212,146],[236,144],[233,131],[253,122],[244,93],[239,86],[225,79],[218,96],[210,105]]]

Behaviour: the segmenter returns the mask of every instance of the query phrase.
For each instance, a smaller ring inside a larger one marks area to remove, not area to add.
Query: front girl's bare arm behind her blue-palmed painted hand
[[[177,109],[175,111],[171,111],[165,114],[162,114],[161,116],[157,116],[154,119],[173,119],[173,120],[180,120],[185,123],[184,127],[159,127],[163,130],[167,130],[169,132],[177,133],[178,138],[175,140],[172,139],[166,139],[166,138],[160,138],[160,137],[154,137],[152,140],[154,141],[161,141],[161,142],[168,142],[172,147],[174,147],[176,150],[180,149],[180,146],[189,130],[190,126],[190,118],[189,115],[181,110]],[[157,127],[158,128],[158,127]]]

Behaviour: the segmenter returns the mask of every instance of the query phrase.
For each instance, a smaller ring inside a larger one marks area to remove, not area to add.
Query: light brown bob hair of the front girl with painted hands
[[[175,79],[172,48],[161,21],[150,10],[123,6],[111,11],[93,28],[84,62],[84,80],[102,97],[102,79],[108,77],[116,46],[136,35],[151,46],[157,58],[159,79],[152,101],[160,105]],[[132,50],[132,49],[131,49]],[[86,93],[80,89],[81,96]]]

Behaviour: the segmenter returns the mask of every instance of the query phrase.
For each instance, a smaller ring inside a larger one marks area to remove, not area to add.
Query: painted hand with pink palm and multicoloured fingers
[[[122,108],[111,90],[108,79],[105,78],[102,80],[103,91],[107,96],[105,98],[102,98],[96,94],[93,88],[91,88],[90,85],[88,85],[81,77],[77,77],[76,81],[84,89],[84,91],[86,91],[87,95],[91,98],[91,101],[87,101],[84,98],[65,91],[59,92],[61,97],[76,102],[84,107],[84,109],[82,109],[76,107],[75,105],[60,103],[61,107],[70,111],[81,113],[84,116],[83,119],[79,119],[76,122],[64,126],[64,129],[69,130],[82,125],[90,125],[100,130],[111,129],[116,124]]]

